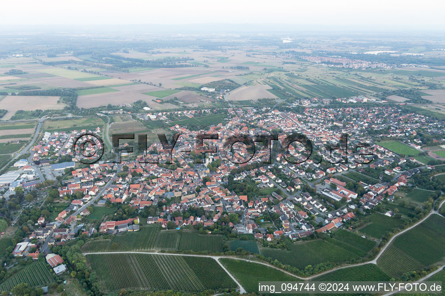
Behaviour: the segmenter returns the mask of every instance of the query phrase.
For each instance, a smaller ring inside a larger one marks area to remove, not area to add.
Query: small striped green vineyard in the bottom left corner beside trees
[[[26,265],[0,285],[0,291],[10,291],[17,284],[26,283],[32,287],[46,286],[54,283],[54,278],[45,261],[37,261]]]

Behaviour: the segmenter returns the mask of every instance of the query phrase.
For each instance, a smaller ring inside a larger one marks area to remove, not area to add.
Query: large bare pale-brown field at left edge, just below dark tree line
[[[66,104],[57,103],[59,97],[46,96],[27,96],[27,95],[7,95],[0,101],[0,109],[8,110],[2,120],[9,120],[16,113],[16,111],[34,111],[40,110],[61,110]]]

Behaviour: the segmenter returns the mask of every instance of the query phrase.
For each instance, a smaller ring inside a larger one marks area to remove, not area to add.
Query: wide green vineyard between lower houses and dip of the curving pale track
[[[316,265],[327,262],[343,262],[356,260],[365,253],[356,249],[356,253],[352,253],[352,247],[342,244],[341,241],[328,240],[312,240],[293,243],[286,240],[289,251],[281,249],[261,249],[264,257],[271,257],[278,260],[282,264],[304,269],[307,265]],[[341,245],[341,246],[339,246]],[[359,253],[360,255],[357,255]]]

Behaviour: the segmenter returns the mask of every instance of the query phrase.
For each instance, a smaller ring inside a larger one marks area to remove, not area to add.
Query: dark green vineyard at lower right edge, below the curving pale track
[[[445,218],[436,214],[402,233],[377,260],[389,276],[400,278],[405,272],[418,271],[445,258]],[[441,263],[440,263],[441,264]]]

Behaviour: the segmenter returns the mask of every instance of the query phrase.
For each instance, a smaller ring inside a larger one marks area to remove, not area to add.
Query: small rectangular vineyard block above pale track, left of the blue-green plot
[[[178,249],[194,252],[223,252],[223,237],[213,234],[198,234],[196,231],[183,231]]]

